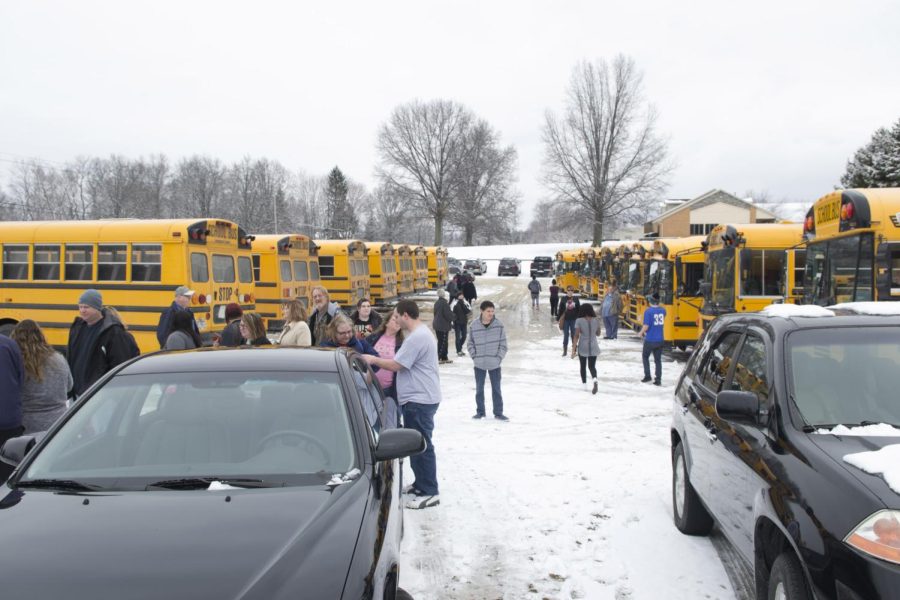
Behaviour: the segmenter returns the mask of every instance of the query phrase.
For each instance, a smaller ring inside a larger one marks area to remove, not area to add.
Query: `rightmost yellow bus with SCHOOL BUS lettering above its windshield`
[[[836,190],[803,226],[803,302],[900,300],[900,188]]]

